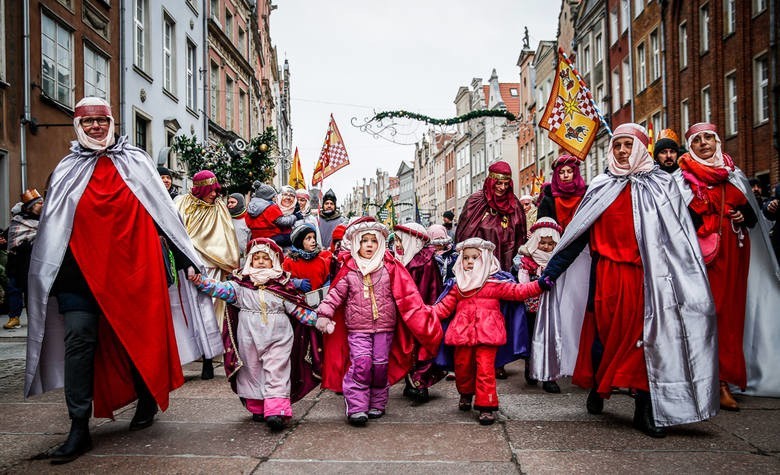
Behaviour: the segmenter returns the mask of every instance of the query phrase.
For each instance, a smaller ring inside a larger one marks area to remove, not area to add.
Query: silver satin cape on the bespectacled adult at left
[[[111,159],[171,245],[204,271],[203,262],[184,230],[152,159],[143,150],[129,145],[127,137],[122,136],[100,154],[84,149],[78,142],[72,143],[70,151],[51,175],[30,260],[26,397],[62,387],[64,383],[65,326],[56,297],[50,296],[49,292],[70,242],[76,207],[99,157]],[[201,355],[211,358],[222,354],[222,339],[211,298],[199,294],[183,272],[179,272],[178,288],[172,286],[168,293],[182,364]]]

